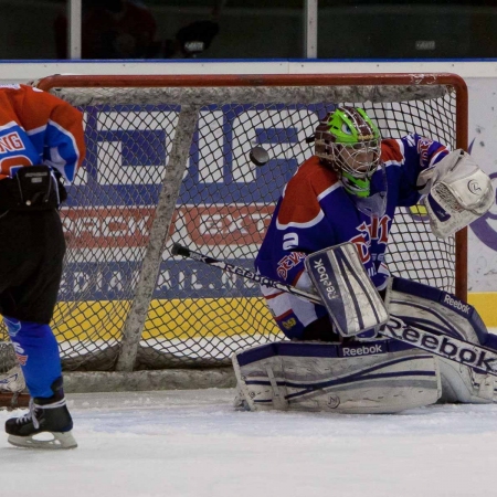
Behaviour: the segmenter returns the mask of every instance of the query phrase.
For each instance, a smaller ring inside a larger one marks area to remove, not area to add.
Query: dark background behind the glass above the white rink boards
[[[95,0],[83,1],[85,12],[95,3]],[[219,12],[214,0],[147,0],[142,3],[157,23],[156,43],[160,47],[137,59],[305,56],[303,0],[226,0]],[[320,0],[318,6],[319,59],[497,57],[497,0],[415,3]],[[0,59],[63,57],[56,50],[55,21],[65,13],[64,0],[0,0]],[[181,29],[199,21],[214,23],[219,30],[208,35],[203,51],[195,54],[165,51],[165,44],[171,46]],[[107,57],[104,54],[102,59]]]

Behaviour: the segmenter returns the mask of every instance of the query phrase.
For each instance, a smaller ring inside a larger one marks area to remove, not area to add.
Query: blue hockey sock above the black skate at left
[[[59,345],[50,325],[3,317],[31,396],[53,395],[52,383],[62,377]]]

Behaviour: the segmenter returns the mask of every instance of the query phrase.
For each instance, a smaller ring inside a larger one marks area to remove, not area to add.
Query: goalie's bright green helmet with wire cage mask
[[[337,107],[315,133],[315,154],[341,176],[346,190],[370,194],[371,177],[380,165],[380,131],[362,108]]]

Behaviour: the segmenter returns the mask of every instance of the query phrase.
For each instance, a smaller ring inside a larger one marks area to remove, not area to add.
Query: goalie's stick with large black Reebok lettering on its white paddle
[[[214,266],[228,273],[251,279],[261,285],[287,292],[288,294],[309,300],[313,304],[321,304],[321,299],[317,295],[267,278],[266,276],[262,276],[250,269],[245,269],[244,267],[235,266],[234,264],[229,264],[224,261],[191,251],[178,243],[175,243],[172,246],[171,254],[192,258],[209,266]],[[414,328],[406,325],[396,316],[390,316],[390,320],[379,331],[379,335],[410,343],[419,349],[458,362],[459,364],[472,367],[478,372],[497,377],[497,352],[487,349],[486,347],[477,346],[447,335],[436,335],[431,331]]]

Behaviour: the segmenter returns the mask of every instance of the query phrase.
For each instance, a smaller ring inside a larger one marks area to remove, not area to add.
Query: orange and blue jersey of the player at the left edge
[[[12,167],[43,163],[71,182],[84,156],[80,110],[31,86],[0,86],[0,180]]]

